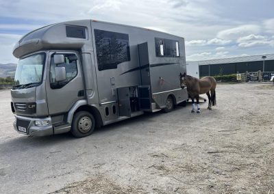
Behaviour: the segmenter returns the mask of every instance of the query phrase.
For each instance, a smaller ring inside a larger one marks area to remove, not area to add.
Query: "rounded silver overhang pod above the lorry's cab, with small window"
[[[13,55],[21,58],[29,53],[48,49],[90,51],[92,48],[90,31],[90,20],[48,25],[23,36],[14,46]]]

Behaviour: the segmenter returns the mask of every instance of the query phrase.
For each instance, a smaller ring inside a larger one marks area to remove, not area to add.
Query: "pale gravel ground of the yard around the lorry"
[[[16,133],[0,91],[0,193],[273,194],[273,95],[272,83],[219,84],[212,111],[147,113],[74,139]]]

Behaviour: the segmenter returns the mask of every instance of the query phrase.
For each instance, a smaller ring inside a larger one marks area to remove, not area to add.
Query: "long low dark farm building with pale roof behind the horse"
[[[187,70],[193,77],[236,74],[244,72],[274,72],[274,54],[211,59],[205,61],[187,61]],[[199,66],[199,72],[195,72]]]

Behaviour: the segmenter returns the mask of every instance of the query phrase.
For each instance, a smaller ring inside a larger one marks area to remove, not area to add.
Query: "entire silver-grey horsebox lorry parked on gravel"
[[[184,38],[140,27],[75,20],[27,33],[14,46],[14,129],[32,136],[90,135],[188,99]]]

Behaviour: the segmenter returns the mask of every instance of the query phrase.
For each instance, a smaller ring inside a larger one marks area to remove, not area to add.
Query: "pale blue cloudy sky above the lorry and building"
[[[0,0],[0,64],[39,27],[95,19],[185,38],[186,61],[274,53],[273,0]]]

